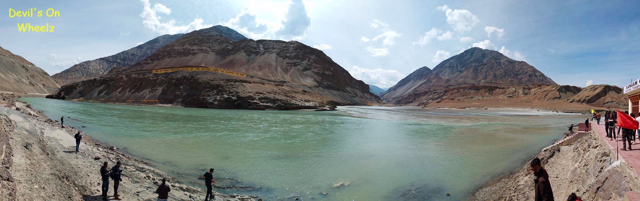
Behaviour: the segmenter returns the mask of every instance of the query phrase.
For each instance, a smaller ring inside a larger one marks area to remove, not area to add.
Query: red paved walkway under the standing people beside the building
[[[605,138],[605,140],[609,142],[609,144],[611,144],[614,149],[618,150],[618,157],[624,158],[625,161],[627,161],[627,163],[636,170],[636,172],[640,171],[640,139],[637,137],[637,133],[636,141],[631,141],[634,142],[634,144],[631,145],[633,149],[631,151],[622,151],[620,150],[622,149],[622,131],[620,131],[620,135],[618,135],[618,129],[616,129],[616,140],[609,140],[609,138],[607,137],[607,132],[604,130],[604,123],[600,122],[600,125],[591,123],[591,126],[593,126],[593,128],[598,131],[600,136]],[[611,158],[613,160],[618,159],[615,155],[612,155]],[[638,175],[636,175],[636,177],[637,176]]]

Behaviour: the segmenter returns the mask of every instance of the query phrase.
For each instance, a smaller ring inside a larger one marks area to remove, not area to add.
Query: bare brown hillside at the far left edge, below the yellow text
[[[0,47],[0,91],[49,94],[58,87],[47,72]]]

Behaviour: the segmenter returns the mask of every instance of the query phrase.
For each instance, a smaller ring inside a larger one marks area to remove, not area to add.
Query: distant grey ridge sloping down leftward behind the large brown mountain
[[[51,77],[61,85],[97,78],[108,73],[111,68],[131,66],[142,61],[142,59],[150,56],[159,48],[164,47],[164,45],[180,38],[182,35],[184,34],[165,34],[158,36],[153,40],[142,43],[134,48],[130,48],[129,50],[124,50],[118,54],[75,64],[74,66],[71,66],[71,68],[61,71],[60,73],[56,73]]]

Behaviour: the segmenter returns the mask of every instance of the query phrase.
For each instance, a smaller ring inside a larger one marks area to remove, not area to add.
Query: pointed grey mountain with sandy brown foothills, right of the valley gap
[[[533,66],[493,50],[470,48],[413,71],[381,96],[396,105],[427,107],[537,107],[582,110],[627,105],[620,87],[559,86]],[[582,107],[568,103],[580,103]]]

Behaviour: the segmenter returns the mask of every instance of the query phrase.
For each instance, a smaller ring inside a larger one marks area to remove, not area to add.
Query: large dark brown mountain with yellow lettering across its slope
[[[211,71],[148,71],[178,66],[219,68],[247,77]],[[225,26],[184,34],[136,64],[64,86],[48,97],[280,110],[382,103],[369,93],[367,84],[321,50],[298,41],[251,40]]]

